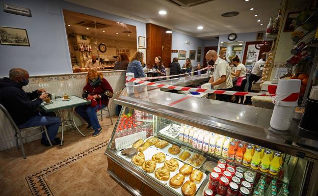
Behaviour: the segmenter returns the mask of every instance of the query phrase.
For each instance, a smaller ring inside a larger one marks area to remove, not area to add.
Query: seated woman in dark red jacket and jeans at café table
[[[99,135],[101,126],[97,119],[97,111],[108,105],[109,97],[112,97],[113,89],[108,81],[103,78],[102,73],[90,70],[86,76],[86,86],[83,88],[83,98],[91,100],[94,98],[96,106],[81,105],[75,108],[75,111],[87,123],[87,128],[93,127],[93,136]]]

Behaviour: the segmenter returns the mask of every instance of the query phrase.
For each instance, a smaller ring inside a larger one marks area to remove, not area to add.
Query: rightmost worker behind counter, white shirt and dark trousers
[[[261,74],[263,73],[263,69],[264,69],[264,65],[266,61],[266,54],[267,54],[266,52],[263,52],[260,55],[260,60],[258,60],[252,68],[251,75],[248,79],[249,80],[248,92],[252,92],[252,83],[258,81],[259,78],[261,78]],[[248,104],[248,105],[252,104],[251,96],[246,96],[244,104]]]

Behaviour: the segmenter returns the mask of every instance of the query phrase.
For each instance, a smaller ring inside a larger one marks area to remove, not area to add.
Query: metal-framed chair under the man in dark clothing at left
[[[24,138],[34,137],[36,135],[42,134],[43,132],[45,132],[46,138],[49,138],[45,126],[36,126],[36,127],[28,127],[28,128],[24,128],[24,129],[19,129],[18,126],[13,121],[13,119],[12,119],[11,115],[9,114],[8,110],[5,108],[5,106],[0,104],[0,109],[3,111],[3,113],[6,116],[6,118],[9,120],[12,128],[14,129],[14,132],[15,132],[14,137],[15,137],[16,147],[17,147],[17,150],[19,150],[19,142],[20,142],[22,155],[23,155],[24,159],[26,159],[26,155],[25,155],[25,152],[24,152],[24,146],[23,146],[23,139]],[[30,136],[22,137],[21,132],[27,132],[27,131],[31,131],[31,130],[38,129],[38,128],[41,129],[40,133],[36,133],[36,134],[30,135]],[[48,139],[48,143],[50,144],[51,147],[53,146],[49,139]]]

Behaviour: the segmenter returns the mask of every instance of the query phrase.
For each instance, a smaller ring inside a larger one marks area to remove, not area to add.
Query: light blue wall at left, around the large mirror
[[[8,76],[13,67],[24,68],[30,75],[72,73],[62,9],[135,25],[136,39],[138,36],[146,37],[146,26],[143,22],[61,0],[8,0],[6,3],[31,9],[32,17],[0,11],[0,25],[26,29],[30,47],[0,45],[0,76]]]

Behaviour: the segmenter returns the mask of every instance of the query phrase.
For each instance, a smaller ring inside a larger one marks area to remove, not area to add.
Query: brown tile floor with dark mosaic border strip
[[[104,151],[114,125],[109,119],[101,125],[97,137],[85,126],[86,137],[66,131],[63,146],[25,144],[26,159],[15,148],[1,151],[0,195],[130,195],[107,173]]]

